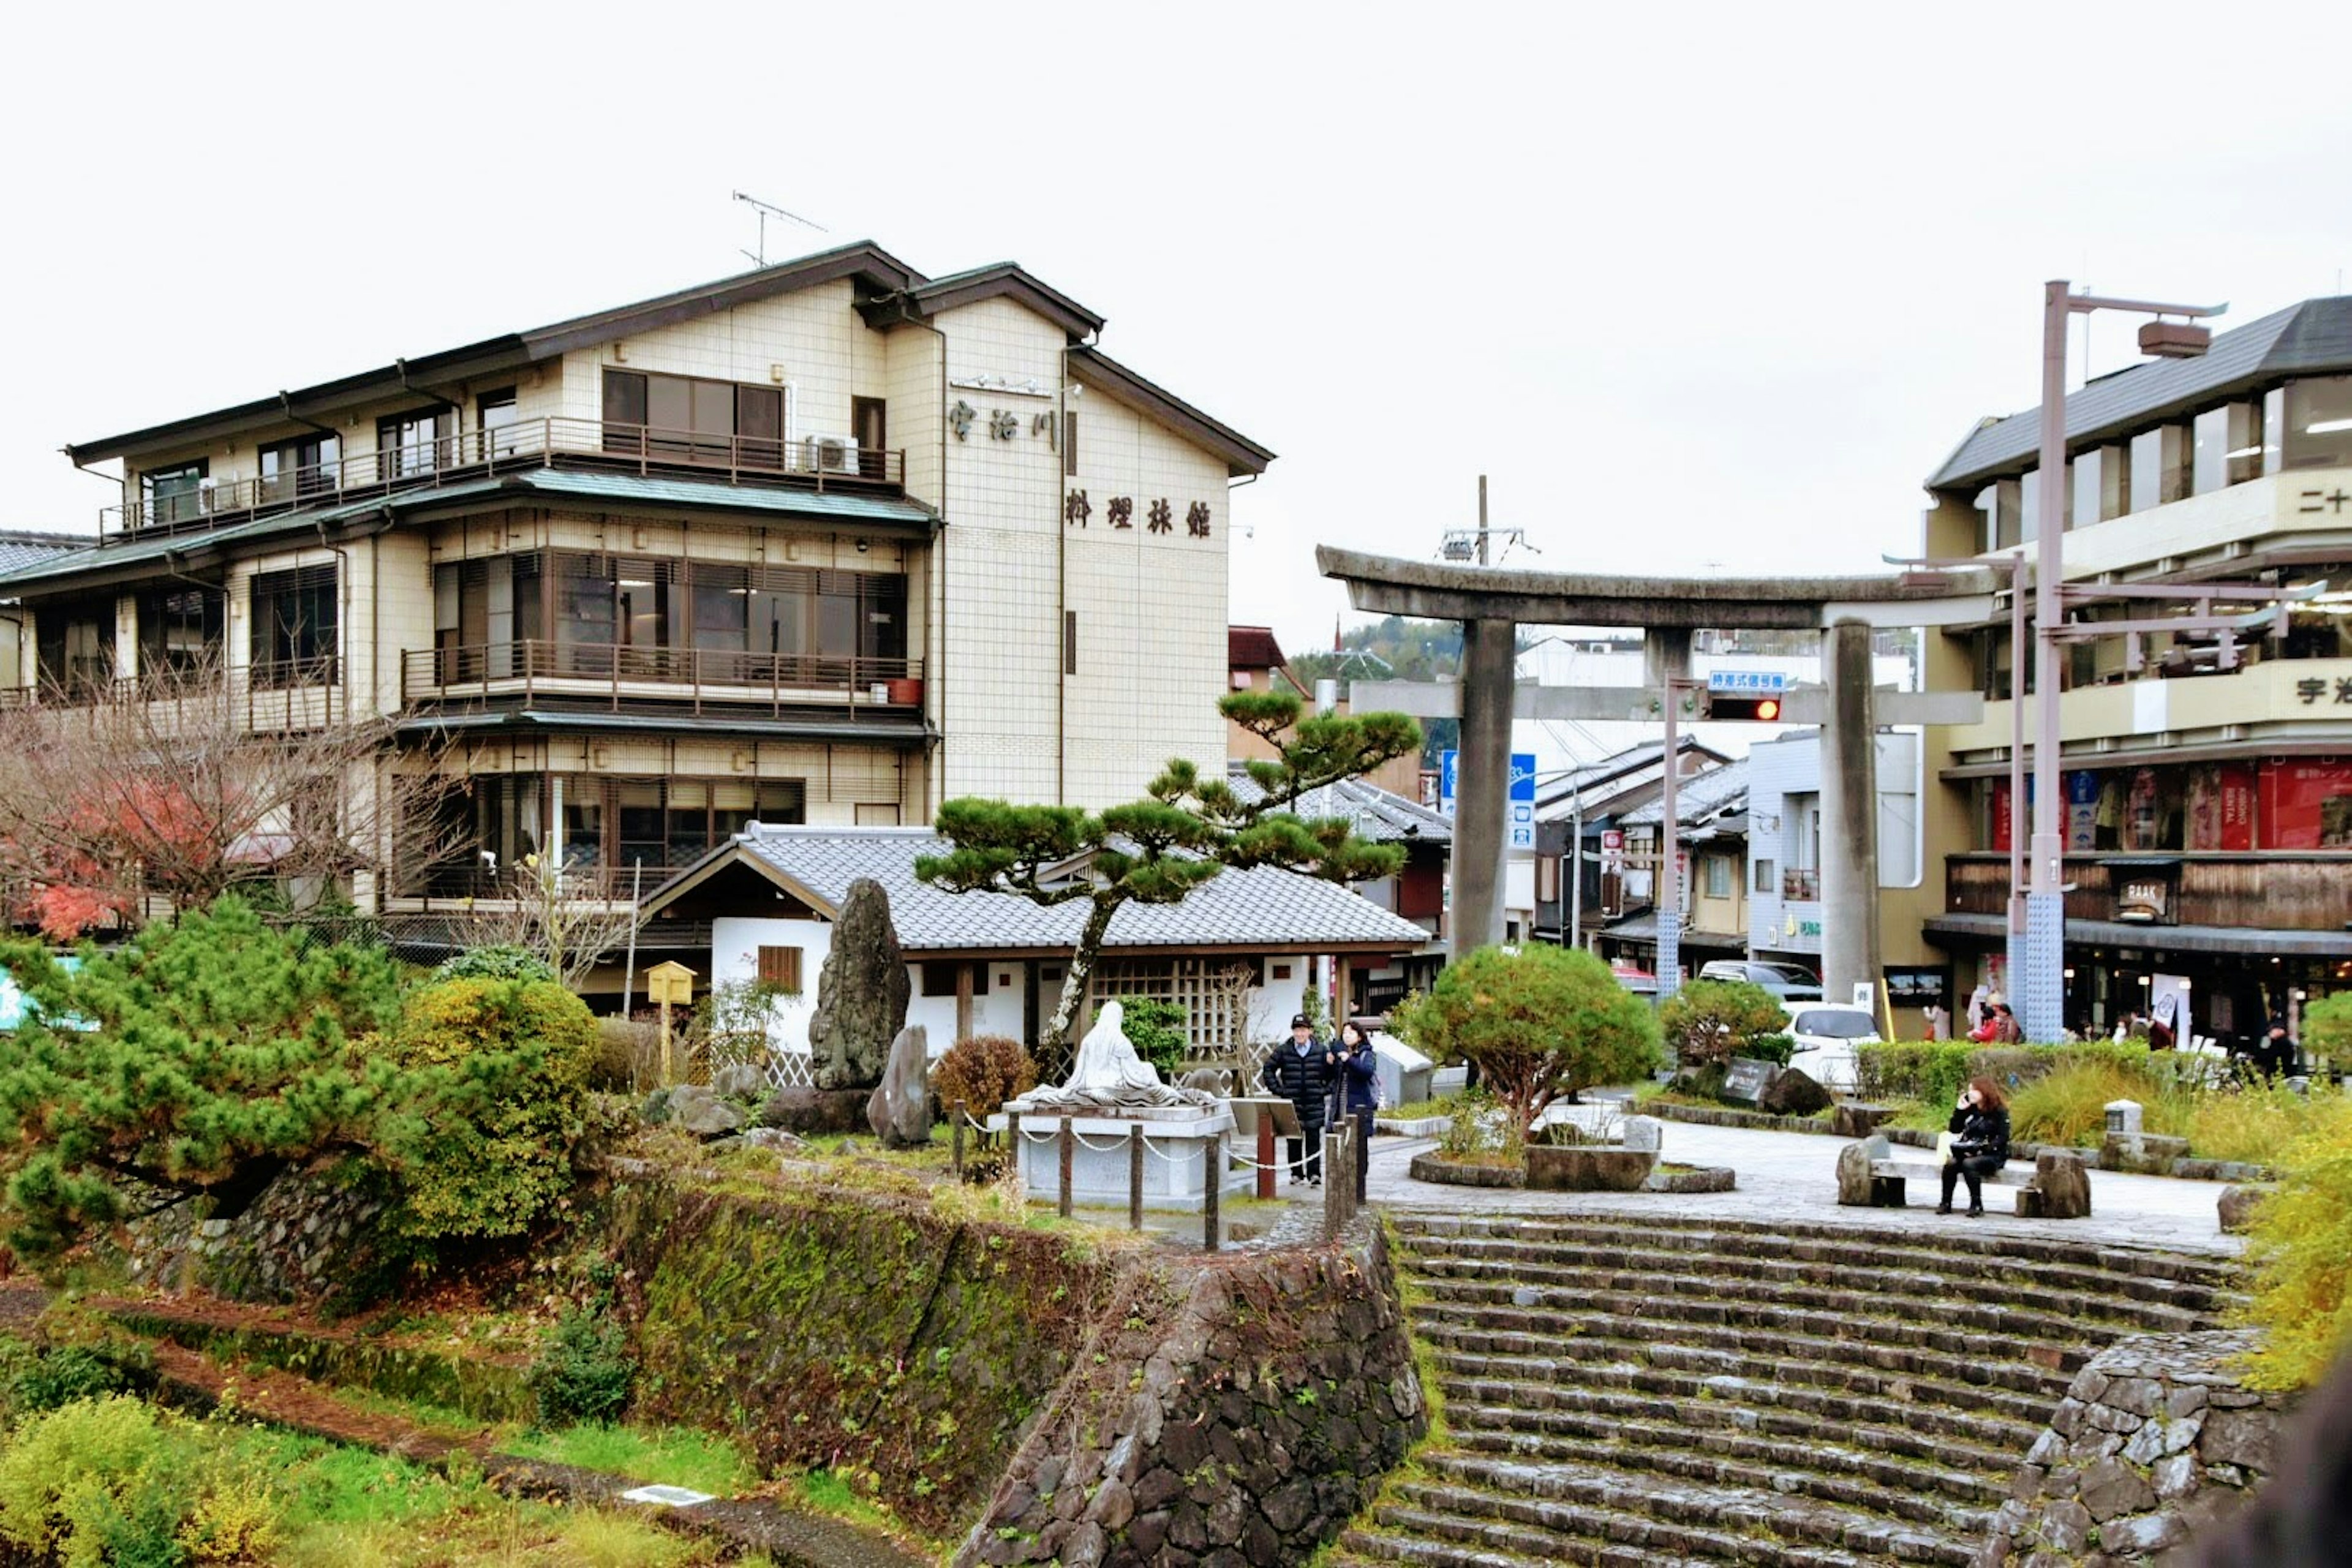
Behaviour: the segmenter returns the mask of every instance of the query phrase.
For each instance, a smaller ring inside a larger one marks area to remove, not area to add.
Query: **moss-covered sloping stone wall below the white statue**
[[[854,1190],[628,1180],[609,1215],[640,1418],[847,1472],[929,1530],[988,1497],[1117,1274],[1061,1234]]]

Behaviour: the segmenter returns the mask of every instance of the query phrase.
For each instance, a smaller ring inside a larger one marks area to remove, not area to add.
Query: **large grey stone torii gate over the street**
[[[1355,609],[1381,616],[1461,621],[1461,771],[1454,797],[1451,952],[1503,940],[1503,846],[1515,717],[1628,717],[1635,701],[1661,696],[1691,672],[1691,632],[1820,630],[1825,689],[1795,691],[1783,722],[1820,724],[1828,764],[1820,780],[1820,898],[1837,912],[1823,931],[1823,994],[1846,997],[1877,983],[1877,748],[1889,724],[1962,724],[1976,693],[1875,693],[1870,632],[1900,625],[1990,621],[1990,569],[1903,576],[1663,578],[1519,571],[1458,562],[1397,559],[1317,545],[1315,564],[1348,585]],[[1644,635],[1646,684],[1630,691],[1571,691],[1517,684],[1517,628],[1604,625]],[[1355,684],[1355,705],[1409,708],[1402,682]],[[1425,708],[1442,708],[1425,705]],[[1423,712],[1421,717],[1442,717]],[[1665,759],[1672,776],[1675,759]],[[1668,783],[1672,802],[1672,780]],[[1675,818],[1668,804],[1668,842]],[[1661,882],[1663,886],[1663,882]],[[1663,922],[1661,922],[1663,924]],[[1661,933],[1663,936],[1663,933]],[[1661,964],[1663,969],[1663,964]],[[1672,978],[1658,976],[1661,994]]]

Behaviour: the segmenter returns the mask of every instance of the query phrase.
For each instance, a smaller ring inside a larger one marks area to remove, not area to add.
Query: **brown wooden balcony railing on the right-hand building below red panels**
[[[2164,926],[2237,926],[2246,931],[2343,931],[2352,924],[2352,851],[2258,853],[2117,853],[2065,858],[2067,919],[2124,919],[2124,884],[2159,882],[2164,919],[2150,922],[2161,947]],[[2009,910],[2009,856],[1950,856],[1943,867],[1943,907],[1950,914]],[[2145,910],[2145,903],[2138,905]]]

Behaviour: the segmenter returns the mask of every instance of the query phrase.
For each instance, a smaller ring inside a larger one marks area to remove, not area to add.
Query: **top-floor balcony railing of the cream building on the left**
[[[835,437],[753,437],[708,430],[623,425],[602,418],[527,418],[496,430],[463,430],[414,447],[360,451],[318,468],[228,480],[146,496],[99,512],[99,534],[200,529],[223,517],[259,517],[303,505],[365,501],[405,489],[477,480],[517,468],[691,473],[729,484],[786,484],[818,491],[901,489],[906,451],[861,449]]]

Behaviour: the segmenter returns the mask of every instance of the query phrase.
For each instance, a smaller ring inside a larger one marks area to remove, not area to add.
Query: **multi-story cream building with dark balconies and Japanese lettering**
[[[209,661],[256,722],[447,741],[466,853],[362,905],[534,851],[652,891],[750,820],[1129,799],[1223,764],[1225,487],[1272,454],[1101,329],[1014,263],[849,244],[78,442],[122,501],[0,571],[12,696]]]

